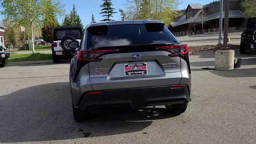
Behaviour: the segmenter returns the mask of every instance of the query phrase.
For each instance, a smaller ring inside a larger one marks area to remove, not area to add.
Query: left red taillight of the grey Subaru
[[[102,60],[101,58],[98,58],[98,57],[106,52],[113,52],[113,50],[78,51],[78,60],[98,62]]]

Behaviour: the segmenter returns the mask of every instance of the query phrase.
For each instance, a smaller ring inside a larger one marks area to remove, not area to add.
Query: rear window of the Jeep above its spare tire
[[[54,40],[62,40],[65,36],[74,36],[77,40],[81,39],[80,30],[57,30],[55,31]]]

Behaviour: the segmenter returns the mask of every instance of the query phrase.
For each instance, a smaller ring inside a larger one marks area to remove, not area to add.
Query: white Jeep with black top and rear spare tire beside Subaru
[[[70,48],[68,44],[72,41],[80,42],[82,39],[81,26],[60,26],[54,28],[52,43],[52,60],[59,62],[61,56],[72,56],[76,49]]]

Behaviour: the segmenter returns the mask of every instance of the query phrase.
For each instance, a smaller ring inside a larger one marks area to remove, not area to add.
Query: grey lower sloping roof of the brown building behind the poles
[[[188,18],[188,19],[186,19],[186,15],[184,15],[180,18],[180,20],[178,22],[173,22],[171,25],[172,26],[180,26],[182,24],[197,23],[197,22],[199,22],[198,16],[201,12],[202,12],[202,10],[199,10],[193,18]],[[222,17],[223,18],[225,17],[225,12],[223,12]],[[228,17],[229,18],[246,18],[246,16],[240,10],[230,10]],[[214,19],[218,19],[218,18],[220,18],[220,12],[218,12],[216,14],[208,15],[207,19],[205,21],[214,20]]]

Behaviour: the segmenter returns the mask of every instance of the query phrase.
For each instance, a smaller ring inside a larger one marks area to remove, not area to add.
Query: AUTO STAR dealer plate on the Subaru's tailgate
[[[144,76],[148,74],[147,63],[124,64],[125,76]]]

